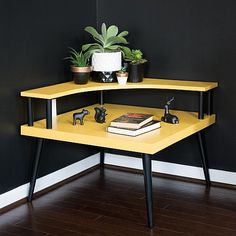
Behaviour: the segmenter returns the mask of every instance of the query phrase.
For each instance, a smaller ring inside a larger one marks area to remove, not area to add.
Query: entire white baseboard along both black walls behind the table
[[[45,188],[48,188],[73,175],[76,175],[84,170],[96,166],[99,163],[100,163],[100,155],[98,153],[82,161],[78,161],[70,166],[67,166],[63,169],[55,171],[46,176],[43,176],[37,179],[34,192],[38,192]],[[142,170],[143,168],[142,160],[140,158],[133,158],[110,153],[106,153],[105,155],[105,164],[133,168],[138,170]],[[164,174],[170,174],[194,179],[204,179],[203,170],[200,167],[180,165],[162,161],[152,161],[152,170],[153,172],[157,173],[164,173]],[[229,172],[215,169],[210,169],[209,172],[211,181],[236,185],[236,172]],[[29,192],[29,183],[1,194],[0,209],[27,197],[28,192]]]

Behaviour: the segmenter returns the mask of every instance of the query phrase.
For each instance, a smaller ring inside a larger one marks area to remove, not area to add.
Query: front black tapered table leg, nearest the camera
[[[152,163],[151,156],[148,154],[142,155],[143,159],[143,174],[146,193],[146,207],[148,227],[153,228],[153,200],[152,200]]]

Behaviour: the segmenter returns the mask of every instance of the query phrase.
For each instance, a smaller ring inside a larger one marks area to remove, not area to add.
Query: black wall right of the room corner
[[[130,32],[133,48],[148,59],[149,77],[218,81],[217,124],[206,134],[210,168],[236,171],[236,2],[234,0],[98,1],[98,25],[116,24]],[[194,93],[126,91],[109,93],[112,102],[197,109]],[[160,152],[159,160],[199,166],[195,137]]]

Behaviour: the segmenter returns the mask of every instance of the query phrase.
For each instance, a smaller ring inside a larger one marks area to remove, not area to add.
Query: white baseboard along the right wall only
[[[142,170],[141,158],[106,153],[105,164],[122,166]],[[205,179],[201,167],[174,164],[163,161],[152,161],[152,171],[194,179]],[[236,185],[236,172],[209,169],[210,179],[213,182]]]

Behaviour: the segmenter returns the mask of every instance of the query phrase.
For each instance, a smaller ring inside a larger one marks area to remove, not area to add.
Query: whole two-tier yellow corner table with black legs
[[[85,85],[74,84],[74,82],[66,82],[21,92],[21,96],[27,98],[28,108],[28,122],[27,124],[21,125],[21,135],[34,138],[36,137],[38,139],[30,181],[28,201],[32,201],[33,199],[34,187],[39,169],[40,155],[43,148],[43,142],[46,139],[100,147],[100,162],[102,167],[104,166],[104,148],[138,152],[142,154],[147,224],[148,227],[152,228],[154,226],[151,167],[151,157],[153,154],[179,142],[182,139],[185,139],[190,135],[197,134],[206,185],[210,185],[210,176],[205,150],[206,143],[202,137],[202,131],[214,124],[216,120],[215,114],[212,114],[212,91],[216,87],[218,87],[217,82],[145,78],[143,82],[127,83],[125,86],[120,86],[117,83],[96,83],[91,81]],[[137,137],[112,134],[106,131],[110,121],[127,112],[151,113],[156,119],[160,119],[163,115],[163,109],[158,108],[119,104],[104,105],[103,92],[106,90],[120,89],[166,89],[194,91],[199,94],[199,108],[196,112],[173,110],[172,113],[179,117],[179,124],[172,125],[162,122],[160,129]],[[90,91],[99,91],[100,101],[99,104],[83,107],[90,112],[90,115],[85,117],[84,125],[72,125],[73,113],[80,111],[81,108],[53,116],[53,100],[72,94]],[[32,109],[33,99],[45,100],[45,119],[34,121]],[[106,123],[103,124],[96,123],[94,120],[94,108],[100,105],[104,105],[108,113]]]

